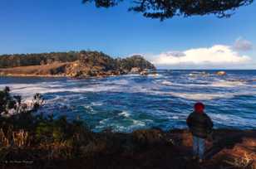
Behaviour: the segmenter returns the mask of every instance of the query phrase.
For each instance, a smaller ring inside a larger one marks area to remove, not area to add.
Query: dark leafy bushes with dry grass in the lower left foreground
[[[13,160],[15,151],[31,153],[25,156],[38,159],[72,158],[79,147],[91,139],[91,131],[80,121],[68,122],[66,117],[37,114],[44,100],[35,94],[32,104],[22,103],[20,96],[12,96],[6,87],[0,91],[0,154],[2,160]],[[14,151],[14,152],[13,152]],[[10,153],[12,152],[12,153]],[[37,155],[36,157],[33,157]],[[43,155],[43,156],[41,156]]]

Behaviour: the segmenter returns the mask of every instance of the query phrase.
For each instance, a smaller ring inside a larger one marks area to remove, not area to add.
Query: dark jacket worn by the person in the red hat
[[[214,127],[214,123],[206,113],[190,113],[190,116],[187,118],[187,124],[191,133],[199,138],[207,138]]]

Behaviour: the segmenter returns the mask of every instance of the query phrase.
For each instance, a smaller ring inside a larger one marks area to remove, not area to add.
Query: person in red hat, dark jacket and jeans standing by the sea
[[[204,104],[194,104],[194,112],[187,118],[187,125],[193,135],[193,153],[194,159],[199,157],[199,162],[204,159],[205,140],[212,133],[214,126],[209,116],[204,113]]]

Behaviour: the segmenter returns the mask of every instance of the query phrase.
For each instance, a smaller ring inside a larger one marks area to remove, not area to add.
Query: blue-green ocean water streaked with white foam
[[[0,77],[24,101],[41,93],[40,112],[68,119],[78,116],[94,131],[112,128],[186,128],[185,119],[201,101],[214,128],[256,128],[256,70],[158,70],[157,75],[68,78]]]

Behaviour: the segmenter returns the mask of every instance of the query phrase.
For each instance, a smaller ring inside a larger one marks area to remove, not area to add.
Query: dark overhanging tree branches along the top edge
[[[114,7],[124,0],[82,0],[94,2],[96,7]],[[175,17],[203,16],[230,17],[238,7],[249,5],[254,0],[133,0],[128,11],[140,12],[144,17],[161,21]]]

